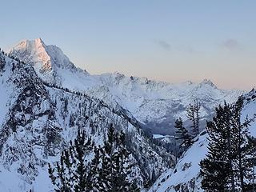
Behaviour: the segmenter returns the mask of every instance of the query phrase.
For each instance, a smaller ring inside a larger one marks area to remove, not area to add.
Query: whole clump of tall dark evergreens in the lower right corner
[[[207,122],[209,152],[200,162],[202,189],[206,191],[249,191],[255,139],[248,136],[253,119],[241,122],[243,98],[230,106],[216,108],[212,122]]]

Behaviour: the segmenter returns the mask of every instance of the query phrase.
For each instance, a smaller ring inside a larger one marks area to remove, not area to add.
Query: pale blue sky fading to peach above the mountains
[[[0,46],[42,38],[90,74],[256,85],[256,1],[2,0]]]

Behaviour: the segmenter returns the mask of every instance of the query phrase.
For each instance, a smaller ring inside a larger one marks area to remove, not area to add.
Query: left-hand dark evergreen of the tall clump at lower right
[[[202,189],[206,192],[228,191],[233,170],[230,162],[230,106],[226,102],[216,108],[213,121],[207,122],[206,130],[210,142],[209,152],[200,162]]]

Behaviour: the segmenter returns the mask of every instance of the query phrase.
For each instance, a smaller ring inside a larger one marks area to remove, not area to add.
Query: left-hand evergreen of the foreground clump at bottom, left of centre
[[[86,141],[85,132],[78,130],[74,143],[70,142],[68,150],[62,151],[60,162],[52,168],[49,164],[49,175],[55,191],[83,192],[90,191],[91,177],[87,155],[92,150],[93,143]]]

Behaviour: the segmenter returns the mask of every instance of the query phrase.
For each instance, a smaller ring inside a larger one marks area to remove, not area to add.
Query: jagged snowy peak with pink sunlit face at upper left
[[[74,66],[58,46],[46,46],[41,38],[19,42],[10,50],[10,54],[33,65],[38,76],[45,82],[62,85],[63,70],[87,74],[85,70]]]

